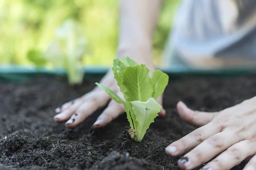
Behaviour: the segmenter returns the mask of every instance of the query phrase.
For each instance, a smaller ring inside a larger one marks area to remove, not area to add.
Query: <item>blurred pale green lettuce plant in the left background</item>
[[[69,83],[80,84],[84,77],[84,65],[81,62],[87,50],[86,39],[77,23],[66,20],[55,32],[55,41],[49,45],[45,58],[56,67],[64,67]]]

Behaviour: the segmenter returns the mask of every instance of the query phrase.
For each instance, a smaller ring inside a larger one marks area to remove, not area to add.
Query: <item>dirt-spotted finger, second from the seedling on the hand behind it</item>
[[[99,109],[99,105],[97,105],[96,100],[90,100],[84,102],[77,110],[76,113],[70,117],[70,119],[66,122],[66,127],[74,128],[84,122],[84,120],[90,116],[92,113]]]

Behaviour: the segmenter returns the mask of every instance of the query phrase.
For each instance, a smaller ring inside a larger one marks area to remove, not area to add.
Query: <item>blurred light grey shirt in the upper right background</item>
[[[195,66],[251,64],[256,60],[256,0],[182,0],[165,55],[174,64],[177,57]]]

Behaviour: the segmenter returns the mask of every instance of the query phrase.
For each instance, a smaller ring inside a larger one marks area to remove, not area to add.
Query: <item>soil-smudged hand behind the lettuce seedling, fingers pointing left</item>
[[[150,69],[150,71],[154,71],[152,63],[149,63],[147,67]],[[117,85],[116,79],[114,79],[112,70],[108,71],[100,83],[107,86],[116,94],[118,94],[122,99],[124,99],[123,94]],[[162,96],[157,99],[157,102],[160,105],[162,105],[162,99]],[[114,100],[111,100],[108,94],[99,87],[94,88],[93,91],[90,91],[78,99],[65,103],[60,108],[57,108],[55,112],[58,114],[54,117],[54,119],[56,122],[67,121],[65,124],[66,127],[74,128],[81,124],[81,122],[83,122],[88,116],[93,114],[98,109],[105,107],[106,105],[108,105],[108,107],[102,112],[102,114],[93,124],[93,127],[95,128],[104,127],[121,113],[123,113],[125,109],[122,104],[118,104]],[[164,116],[165,111],[162,109],[159,115]]]

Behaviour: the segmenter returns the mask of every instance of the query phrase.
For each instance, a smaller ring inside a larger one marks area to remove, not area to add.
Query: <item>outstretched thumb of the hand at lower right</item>
[[[195,126],[204,126],[212,119],[218,115],[218,112],[200,112],[200,111],[193,111],[188,108],[183,102],[177,103],[177,111],[180,114],[180,117],[184,119],[189,124]]]

